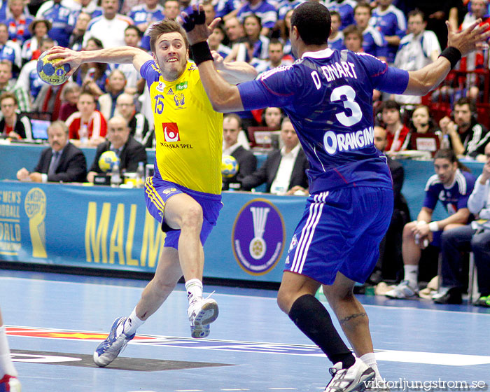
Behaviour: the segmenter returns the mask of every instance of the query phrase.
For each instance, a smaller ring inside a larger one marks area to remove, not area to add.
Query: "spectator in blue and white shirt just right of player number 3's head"
[[[388,43],[381,32],[369,25],[371,7],[368,3],[360,2],[354,8],[354,20],[363,31],[363,49],[366,53],[386,61],[388,57]]]

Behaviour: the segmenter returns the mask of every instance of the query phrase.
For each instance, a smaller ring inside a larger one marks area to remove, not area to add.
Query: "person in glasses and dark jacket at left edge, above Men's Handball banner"
[[[13,139],[32,140],[31,120],[17,113],[19,108],[17,97],[13,92],[2,92],[0,95],[0,132]]]

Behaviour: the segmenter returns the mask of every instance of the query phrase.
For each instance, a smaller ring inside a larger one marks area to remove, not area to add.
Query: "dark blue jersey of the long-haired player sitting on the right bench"
[[[468,199],[475,186],[475,176],[468,172],[456,170],[454,181],[450,186],[444,186],[437,174],[428,179],[426,183],[426,198],[423,207],[435,209],[435,204],[440,201],[449,215],[456,211],[468,208]]]

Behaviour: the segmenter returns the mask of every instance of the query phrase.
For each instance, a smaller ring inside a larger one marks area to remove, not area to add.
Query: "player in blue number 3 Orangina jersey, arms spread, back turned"
[[[461,55],[489,38],[484,33],[488,25],[479,27],[477,21],[459,33],[448,25],[449,48],[433,64],[408,72],[372,55],[330,50],[330,13],[307,1],[291,18],[290,40],[298,60],[231,86],[218,76],[206,43],[218,20],[205,25],[202,7],[183,13],[182,19],[214,109],[279,106],[293,123],[309,160],[311,195],[290,243],[277,301],[335,364],[325,391],[363,391],[370,381],[375,386],[381,377],[368,318],[353,296],[354,283],[364,282],[377,262],[393,210],[386,158],[374,147],[372,90],[427,94]],[[314,297],[321,285],[358,359]]]

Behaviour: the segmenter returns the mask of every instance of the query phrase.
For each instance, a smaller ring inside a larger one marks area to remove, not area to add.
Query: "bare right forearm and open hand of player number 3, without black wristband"
[[[489,24],[479,26],[481,19],[474,22],[470,27],[463,31],[455,32],[449,22],[446,22],[448,29],[447,45],[456,48],[462,56],[468,55],[481,45],[486,45],[486,40],[490,36]],[[439,57],[432,64],[424,66],[418,71],[408,73],[409,80],[407,89],[403,94],[407,95],[425,95],[430,90],[442,83],[451,70],[451,62],[445,57]]]

